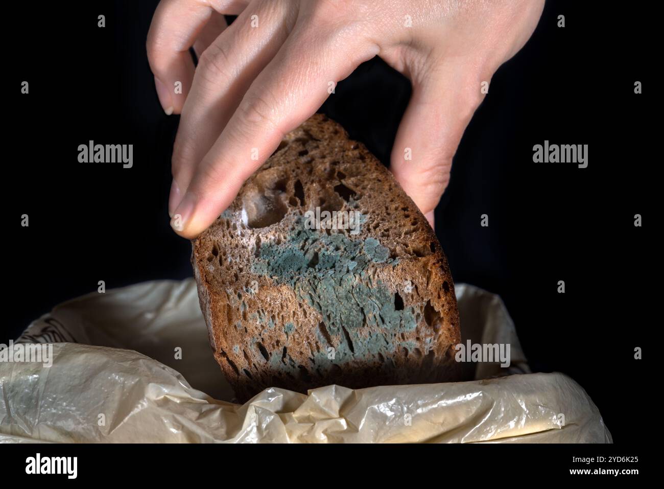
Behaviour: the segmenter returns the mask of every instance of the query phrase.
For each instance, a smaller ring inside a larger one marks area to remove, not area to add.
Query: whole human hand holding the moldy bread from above
[[[187,238],[204,231],[284,134],[323,104],[330,86],[380,56],[413,86],[391,169],[433,226],[452,157],[483,99],[482,83],[523,47],[543,6],[544,0],[162,0],[147,53],[164,110],[182,114],[171,225]],[[222,14],[239,15],[226,28]],[[199,55],[197,68],[190,47]],[[412,159],[404,157],[406,148]]]

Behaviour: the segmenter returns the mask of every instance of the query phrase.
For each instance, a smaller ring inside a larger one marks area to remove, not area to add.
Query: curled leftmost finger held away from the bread
[[[194,76],[189,54],[212,15],[231,14],[244,5],[238,0],[162,0],[147,33],[147,60],[155,76],[159,103],[167,114],[179,114]]]

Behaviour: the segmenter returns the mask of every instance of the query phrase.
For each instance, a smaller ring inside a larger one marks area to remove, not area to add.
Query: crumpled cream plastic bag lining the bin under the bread
[[[88,294],[17,340],[53,343],[51,367],[0,362],[0,442],[612,442],[580,385],[529,373],[498,296],[456,294],[463,342],[510,343],[509,368],[465,363],[475,380],[457,383],[271,388],[244,405],[230,402],[193,280]]]

